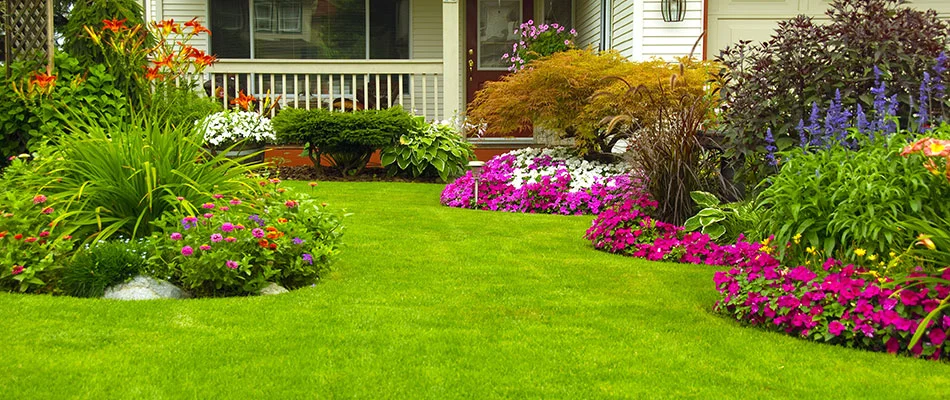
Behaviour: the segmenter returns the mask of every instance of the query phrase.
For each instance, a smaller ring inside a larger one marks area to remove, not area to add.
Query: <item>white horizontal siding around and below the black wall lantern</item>
[[[682,22],[664,22],[660,14],[659,0],[644,0],[643,3],[643,54],[642,58],[661,57],[671,59],[690,54],[693,44],[703,32],[703,2],[690,0],[686,5],[686,19]],[[699,42],[693,53],[703,56],[703,43]]]

